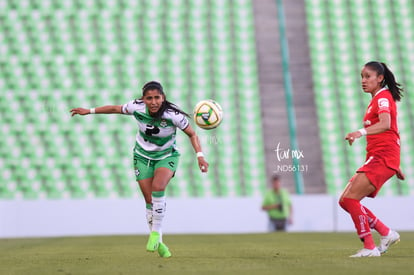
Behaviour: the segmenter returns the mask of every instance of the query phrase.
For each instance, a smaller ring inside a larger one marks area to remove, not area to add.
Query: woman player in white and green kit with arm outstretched
[[[171,253],[162,242],[161,225],[165,215],[165,189],[177,169],[179,152],[175,145],[176,129],[188,135],[197,155],[201,172],[207,172],[199,138],[187,119],[188,114],[167,101],[162,85],[147,82],[142,97],[124,105],[108,105],[92,109],[75,108],[72,116],[88,114],[133,115],[138,122],[134,148],[135,177],[146,203],[146,217],[150,228],[147,250],[158,251],[161,257]]]

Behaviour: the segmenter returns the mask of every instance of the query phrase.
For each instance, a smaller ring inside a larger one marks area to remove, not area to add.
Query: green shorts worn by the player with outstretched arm
[[[177,151],[173,151],[171,156],[160,160],[147,159],[146,157],[134,153],[135,179],[138,181],[152,178],[155,170],[160,167],[168,168],[175,173],[179,158],[180,153]]]

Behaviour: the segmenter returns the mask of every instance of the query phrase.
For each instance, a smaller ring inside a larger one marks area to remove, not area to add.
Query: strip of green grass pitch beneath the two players
[[[166,235],[168,259],[145,251],[146,236],[0,239],[0,274],[414,274],[414,232],[400,233],[359,259],[354,233]]]

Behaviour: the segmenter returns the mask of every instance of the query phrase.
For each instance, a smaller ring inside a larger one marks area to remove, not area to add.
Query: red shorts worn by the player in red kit
[[[368,197],[374,198],[384,183],[394,176],[397,171],[389,168],[383,158],[370,156],[365,164],[357,170],[357,173],[365,173],[371,184],[375,186],[375,191],[368,195]]]

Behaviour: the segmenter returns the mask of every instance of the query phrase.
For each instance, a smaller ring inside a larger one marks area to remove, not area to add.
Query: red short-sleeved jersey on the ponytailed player
[[[367,135],[367,158],[379,155],[386,165],[394,170],[400,166],[400,135],[397,126],[397,105],[391,92],[383,88],[378,91],[368,105],[364,116],[364,127],[369,127],[379,122],[379,114],[389,113],[391,127],[385,132],[375,135]]]

